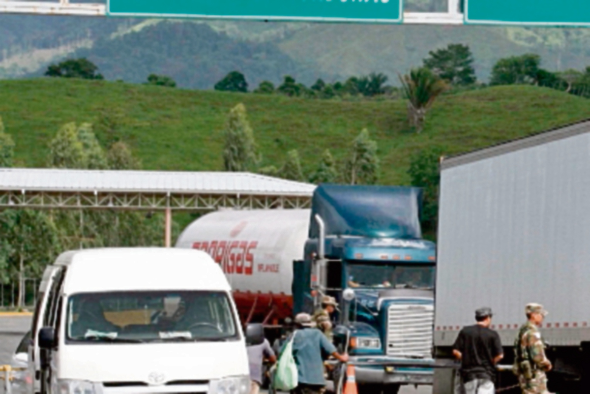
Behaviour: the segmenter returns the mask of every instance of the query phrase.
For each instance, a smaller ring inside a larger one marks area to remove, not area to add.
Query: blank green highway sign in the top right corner
[[[590,26],[590,0],[464,0],[467,24]]]

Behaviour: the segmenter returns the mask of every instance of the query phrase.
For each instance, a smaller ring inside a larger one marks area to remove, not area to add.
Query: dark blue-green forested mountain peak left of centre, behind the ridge
[[[227,73],[240,70],[254,88],[263,80],[290,74],[310,83],[330,71],[302,67],[273,42],[242,41],[206,24],[162,22],[116,38],[96,41],[73,54],[93,61],[104,77],[144,82],[150,73],[170,75],[182,87],[211,88]]]

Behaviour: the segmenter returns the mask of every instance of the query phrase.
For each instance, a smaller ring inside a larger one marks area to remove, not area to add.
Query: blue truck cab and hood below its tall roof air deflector
[[[308,239],[304,260],[294,264],[294,311],[313,313],[322,295],[336,298],[334,342],[356,365],[361,394],[431,385],[435,244],[388,237],[392,231],[378,234],[384,237],[370,231],[329,234],[337,232],[329,217],[333,212],[319,211],[312,208],[312,222],[319,226],[310,236],[317,237]]]

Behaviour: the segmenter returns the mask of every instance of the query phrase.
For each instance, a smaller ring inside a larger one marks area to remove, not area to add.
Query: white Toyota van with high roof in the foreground
[[[251,343],[261,327],[248,327]],[[250,391],[245,338],[205,252],[86,249],[42,279],[28,365],[41,394]]]

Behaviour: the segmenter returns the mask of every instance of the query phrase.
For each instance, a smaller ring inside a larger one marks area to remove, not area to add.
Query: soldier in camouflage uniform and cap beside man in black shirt
[[[525,311],[529,321],[520,327],[514,341],[514,373],[523,394],[549,394],[545,373],[552,365],[545,356],[545,343],[538,329],[547,311],[540,304],[527,304]]]

